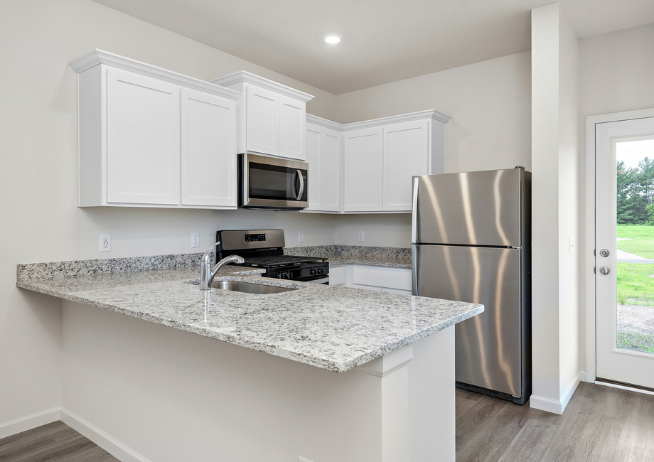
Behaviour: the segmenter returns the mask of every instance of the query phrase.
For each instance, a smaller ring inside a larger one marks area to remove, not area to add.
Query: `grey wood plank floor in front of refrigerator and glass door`
[[[654,396],[581,382],[562,416],[456,390],[457,462],[654,462]]]

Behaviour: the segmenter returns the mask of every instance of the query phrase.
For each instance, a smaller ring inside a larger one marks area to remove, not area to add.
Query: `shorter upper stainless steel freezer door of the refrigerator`
[[[511,168],[417,176],[413,243],[520,247],[525,174]]]

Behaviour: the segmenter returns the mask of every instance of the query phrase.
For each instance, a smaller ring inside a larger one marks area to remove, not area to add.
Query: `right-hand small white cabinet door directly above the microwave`
[[[306,104],[284,95],[279,96],[279,155],[304,161]]]

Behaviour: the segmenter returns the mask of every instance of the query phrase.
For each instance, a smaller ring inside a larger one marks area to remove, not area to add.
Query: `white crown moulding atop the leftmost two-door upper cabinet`
[[[159,80],[166,80],[178,85],[183,85],[184,87],[213,93],[213,95],[227,98],[227,100],[238,101],[241,97],[240,92],[231,90],[230,88],[221,87],[220,85],[205,82],[204,80],[173,72],[172,70],[158,68],[147,63],[141,63],[141,61],[125,58],[124,56],[114,55],[114,53],[109,53],[103,50],[96,49],[88,55],[82,56],[82,58],[78,58],[77,60],[68,63],[70,68],[77,72],[77,74],[99,64],[110,65],[113,68],[129,70],[142,75],[148,75],[149,77],[155,77]]]

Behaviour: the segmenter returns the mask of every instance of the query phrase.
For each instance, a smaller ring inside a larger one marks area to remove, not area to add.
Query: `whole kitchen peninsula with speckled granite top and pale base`
[[[217,279],[298,290],[200,291],[200,256],[18,265],[63,299],[60,420],[124,461],[454,462],[454,324],[483,306],[241,267]]]

